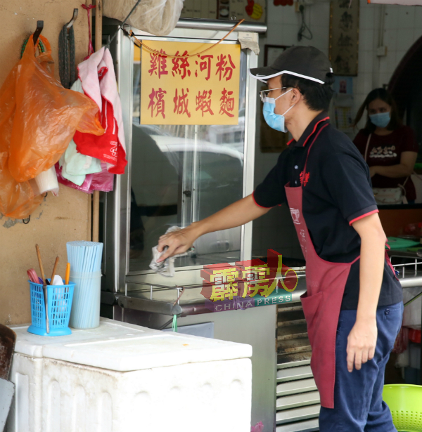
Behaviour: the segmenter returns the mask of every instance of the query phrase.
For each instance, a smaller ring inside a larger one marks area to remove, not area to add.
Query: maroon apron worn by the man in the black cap
[[[328,124],[321,127],[311,145],[309,145],[307,158],[316,138],[326,126]],[[305,178],[307,158],[302,178]],[[288,184],[285,189],[290,214],[306,261],[307,292],[302,294],[300,299],[312,347],[311,369],[321,397],[321,405],[326,408],[333,408],[335,336],[338,316],[340,315],[340,306],[350,267],[352,263],[359,259],[359,256],[351,263],[330,263],[319,258],[303,217],[302,185],[291,188],[290,184]]]

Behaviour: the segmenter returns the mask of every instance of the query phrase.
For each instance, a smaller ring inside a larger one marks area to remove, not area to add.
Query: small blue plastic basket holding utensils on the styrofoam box
[[[65,336],[72,334],[69,328],[70,310],[72,308],[75,284],[47,285],[50,332],[46,329],[46,308],[42,284],[30,282],[32,325],[28,332],[40,336]]]

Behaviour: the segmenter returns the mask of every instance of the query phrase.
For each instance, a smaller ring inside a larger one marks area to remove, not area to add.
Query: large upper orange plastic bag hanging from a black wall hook
[[[81,93],[64,89],[54,78],[49,41],[41,35],[39,38],[46,52],[35,57],[34,41],[30,37],[23,57],[0,90],[2,105],[3,93],[7,92],[5,87],[15,89],[13,100],[8,103],[15,105],[14,112],[9,112],[13,128],[0,139],[10,140],[8,167],[18,182],[51,168],[76,130],[94,135],[104,133],[98,121],[97,105]]]

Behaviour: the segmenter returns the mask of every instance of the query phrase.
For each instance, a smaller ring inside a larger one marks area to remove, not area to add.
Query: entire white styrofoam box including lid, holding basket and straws
[[[103,318],[69,336],[13,329],[8,432],[250,430],[248,345]]]

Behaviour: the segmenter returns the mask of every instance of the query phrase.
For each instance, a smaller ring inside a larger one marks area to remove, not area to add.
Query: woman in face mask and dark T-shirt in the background
[[[396,189],[398,197],[401,189],[406,198],[403,202],[413,204],[416,191],[410,175],[418,155],[413,131],[402,125],[395,101],[385,89],[375,89],[366,96],[354,119],[354,126],[362,118],[364,110],[367,111],[366,125],[353,142],[369,165],[372,186],[378,192],[377,202],[388,203],[387,198],[384,202],[383,192],[378,188],[388,189],[390,196]]]

